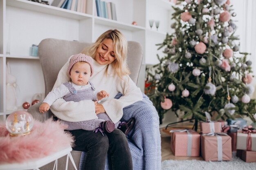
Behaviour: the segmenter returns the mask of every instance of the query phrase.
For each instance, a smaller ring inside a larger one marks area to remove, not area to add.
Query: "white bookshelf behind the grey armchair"
[[[138,86],[144,92],[147,64],[156,64],[157,46],[171,33],[172,3],[167,0],[105,0],[115,3],[117,21],[95,16],[93,0],[90,13],[81,13],[29,0],[0,0],[0,120],[14,110],[6,108],[6,64],[17,78],[17,106],[31,104],[32,96],[44,93],[39,57],[29,56],[29,47],[45,38],[94,42],[108,29],[118,29],[127,40],[139,42],[144,50]],[[49,0],[52,3],[52,0]],[[159,20],[159,29],[150,29],[148,20]],[[137,26],[131,23],[137,22]],[[8,48],[8,49],[7,49]],[[8,54],[7,54],[8,53]]]

